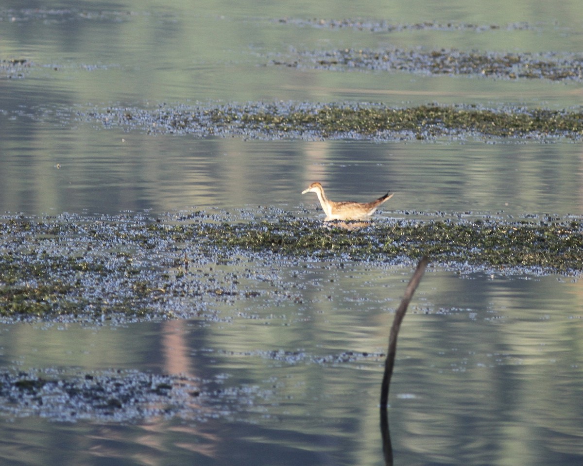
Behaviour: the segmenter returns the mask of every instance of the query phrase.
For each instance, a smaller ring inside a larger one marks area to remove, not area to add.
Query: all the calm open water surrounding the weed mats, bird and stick
[[[423,1],[126,1],[23,9],[36,6],[0,10],[0,59],[34,63],[22,78],[0,77],[1,211],[201,209],[237,221],[275,208],[317,217],[315,196],[300,193],[318,180],[332,199],[395,192],[381,217],[581,215],[580,143],[197,139],[106,129],[78,117],[110,106],[274,100],[577,107],[578,83],[270,63],[338,48],[580,52],[579,2],[451,1],[436,10]],[[313,18],[500,29],[373,33],[305,23]],[[507,27],[519,22],[529,27]],[[0,366],[184,374],[201,389],[236,397],[216,394],[177,415],[125,421],[55,422],[37,408],[3,411],[1,463],[382,464],[381,354],[409,267],[247,257],[210,266],[226,277],[252,270],[239,287],[261,294],[209,300],[213,318],[2,324]],[[428,271],[399,336],[389,398],[395,464],[581,464],[582,296],[571,277]]]

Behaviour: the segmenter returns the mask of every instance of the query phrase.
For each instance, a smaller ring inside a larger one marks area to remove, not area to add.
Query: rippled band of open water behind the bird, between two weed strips
[[[59,143],[48,158],[44,149],[30,148],[24,157],[22,149],[12,150],[17,140],[0,142],[8,144],[0,209],[113,214],[251,207],[261,213],[272,206],[314,217],[322,214],[317,199],[300,194],[313,179],[340,198],[395,192],[376,217],[402,211],[566,215],[581,213],[583,203],[577,144],[192,142],[114,130],[84,136],[83,147]]]

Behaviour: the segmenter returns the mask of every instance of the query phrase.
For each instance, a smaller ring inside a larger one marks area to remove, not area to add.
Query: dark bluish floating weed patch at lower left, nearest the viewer
[[[8,418],[138,422],[179,417],[203,422],[232,418],[272,394],[272,388],[225,386],[224,377],[202,380],[138,370],[0,372],[0,416]]]

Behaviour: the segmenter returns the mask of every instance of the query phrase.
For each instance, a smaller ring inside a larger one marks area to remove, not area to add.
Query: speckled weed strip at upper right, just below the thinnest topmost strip
[[[455,49],[352,49],[302,51],[272,65],[331,70],[405,71],[430,75],[475,75],[498,79],[583,80],[583,55],[567,53],[465,52]]]

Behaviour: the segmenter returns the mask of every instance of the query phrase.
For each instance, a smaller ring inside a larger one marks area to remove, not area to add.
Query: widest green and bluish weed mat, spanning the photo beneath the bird
[[[246,223],[200,212],[146,218],[4,216],[0,220],[0,316],[12,320],[216,319],[212,303],[296,302],[291,285],[241,265],[322,259],[410,264],[429,256],[446,270],[580,274],[579,218],[507,222],[398,220],[347,230],[277,216]],[[223,270],[224,269],[224,270]],[[240,275],[238,275],[240,273]]]

